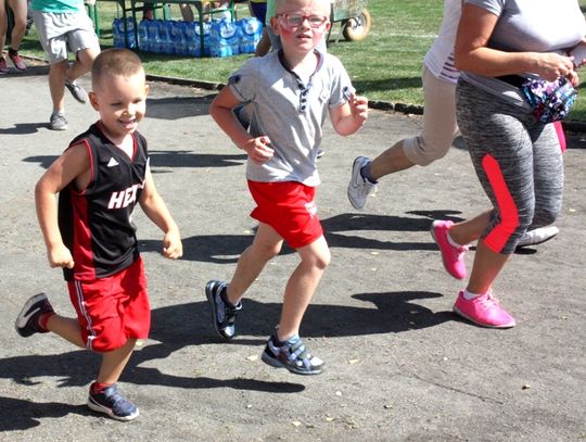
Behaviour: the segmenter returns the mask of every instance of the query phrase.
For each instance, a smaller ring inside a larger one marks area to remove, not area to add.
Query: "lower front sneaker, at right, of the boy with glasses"
[[[279,341],[277,333],[272,334],[260,358],[272,367],[286,368],[295,375],[319,375],[326,365],[309,353],[298,334],[284,342]]]

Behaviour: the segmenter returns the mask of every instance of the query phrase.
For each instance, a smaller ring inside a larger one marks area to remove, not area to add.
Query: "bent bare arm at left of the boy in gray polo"
[[[267,136],[251,137],[232,113],[232,109],[239,104],[240,101],[234,97],[230,88],[225,87],[212,102],[209,114],[235,146],[244,150],[253,162],[263,164],[270,160],[275,153],[269,147],[270,139]]]

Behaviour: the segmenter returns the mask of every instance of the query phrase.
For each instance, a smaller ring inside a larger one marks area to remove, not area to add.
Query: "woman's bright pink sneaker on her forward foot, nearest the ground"
[[[482,296],[467,300],[463,290],[458,293],[454,312],[479,326],[492,328],[511,328],[515,326],[514,318],[500,305],[491,292]]]

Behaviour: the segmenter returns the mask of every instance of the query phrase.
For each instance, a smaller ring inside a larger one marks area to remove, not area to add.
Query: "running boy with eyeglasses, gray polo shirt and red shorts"
[[[249,60],[209,109],[249,155],[246,178],[257,204],[251,216],[259,223],[231,281],[212,280],[205,287],[214,328],[226,340],[234,337],[244,292],[286,241],[301,262],[286,282],[279,326],[262,359],[297,375],[323,370],[323,362],[298,334],[330,262],[315,203],[322,124],[329,113],[336,132],[346,136],[356,132],[368,115],[368,101],[355,96],[342,63],[315,50],[330,27],[329,13],[329,0],[277,0],[271,24],[283,48]],[[253,106],[249,131],[232,112],[246,103]]]

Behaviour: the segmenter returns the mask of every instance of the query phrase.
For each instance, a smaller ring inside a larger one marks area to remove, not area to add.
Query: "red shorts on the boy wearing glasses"
[[[251,216],[268,224],[293,249],[309,245],[323,235],[317,216],[316,188],[296,181],[249,180],[257,206]]]

